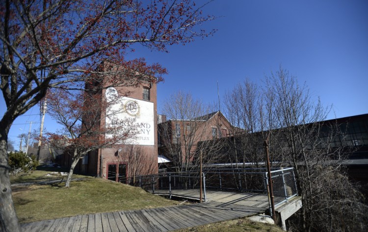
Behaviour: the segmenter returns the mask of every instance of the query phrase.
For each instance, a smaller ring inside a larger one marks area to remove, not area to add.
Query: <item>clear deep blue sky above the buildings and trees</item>
[[[219,17],[205,25],[218,30],[213,36],[171,46],[169,53],[139,46],[131,57],[145,57],[169,71],[158,84],[158,113],[172,93],[182,90],[215,102],[217,81],[223,97],[245,78],[261,83],[282,64],[299,83],[306,82],[313,97],[334,106],[329,119],[366,114],[367,12],[367,0],[215,0],[204,8]],[[0,104],[3,112],[2,99]],[[28,131],[29,125],[21,124],[26,121],[40,119],[21,116],[14,122],[9,139],[16,147],[16,136]],[[47,116],[45,127],[52,131],[54,124]]]

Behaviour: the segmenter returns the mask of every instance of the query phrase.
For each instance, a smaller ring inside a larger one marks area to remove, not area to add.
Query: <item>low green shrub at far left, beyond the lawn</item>
[[[13,168],[14,172],[35,170],[38,164],[34,155],[29,157],[24,152],[9,153],[9,165]]]

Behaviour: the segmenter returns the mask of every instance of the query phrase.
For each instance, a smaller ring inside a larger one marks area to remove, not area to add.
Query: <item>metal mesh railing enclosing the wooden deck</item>
[[[206,190],[231,191],[231,192],[254,192],[268,194],[269,206],[270,193],[268,192],[268,172],[266,168],[218,168],[203,170],[203,196],[206,201]],[[135,183],[127,179],[127,184],[139,186],[154,194],[181,196],[184,198],[200,198],[199,171],[188,172],[164,172],[153,175],[135,176]],[[297,196],[297,186],[294,169],[273,168],[271,171],[273,196],[275,206]]]

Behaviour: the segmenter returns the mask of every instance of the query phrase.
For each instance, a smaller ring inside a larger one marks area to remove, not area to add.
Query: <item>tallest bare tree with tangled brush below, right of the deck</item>
[[[273,131],[274,153],[294,167],[302,196],[298,230],[364,228],[364,224],[356,225],[352,217],[363,216],[363,208],[341,166],[346,153],[342,145],[334,145],[338,137],[343,138],[343,131],[337,123],[321,122],[330,108],[323,107],[319,99],[314,101],[308,87],[299,85],[282,67],[266,83],[267,92],[274,96],[272,109],[278,127]],[[352,205],[357,206],[357,212],[345,214],[344,209]]]

